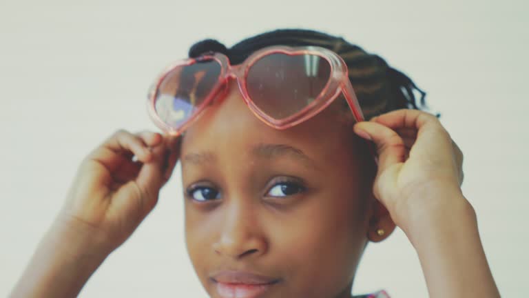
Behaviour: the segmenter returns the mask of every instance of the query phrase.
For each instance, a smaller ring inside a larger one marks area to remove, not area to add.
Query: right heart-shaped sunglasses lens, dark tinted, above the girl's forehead
[[[326,59],[310,54],[270,54],[247,73],[253,103],[275,119],[285,119],[306,108],[320,95],[331,75]]]

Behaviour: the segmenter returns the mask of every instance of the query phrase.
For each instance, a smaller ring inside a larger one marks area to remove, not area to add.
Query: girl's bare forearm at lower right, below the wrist
[[[460,195],[460,194],[456,194]],[[488,266],[475,211],[462,196],[412,216],[408,228],[430,297],[499,297]],[[457,202],[457,203],[454,203]]]

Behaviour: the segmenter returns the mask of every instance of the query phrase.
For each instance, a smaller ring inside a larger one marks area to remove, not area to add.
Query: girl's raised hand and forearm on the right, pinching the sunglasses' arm
[[[475,212],[461,193],[463,154],[439,120],[397,110],[354,130],[375,142],[374,195],[417,250],[429,297],[499,297]]]

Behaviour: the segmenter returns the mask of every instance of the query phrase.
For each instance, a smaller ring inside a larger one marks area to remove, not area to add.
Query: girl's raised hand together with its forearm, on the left
[[[177,141],[119,130],[94,149],[10,297],[77,297],[156,205],[178,159]]]

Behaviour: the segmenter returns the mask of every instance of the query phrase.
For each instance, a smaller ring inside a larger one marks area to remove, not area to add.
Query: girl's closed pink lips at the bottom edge
[[[280,279],[241,271],[222,271],[211,277],[219,297],[258,298],[268,292]]]

